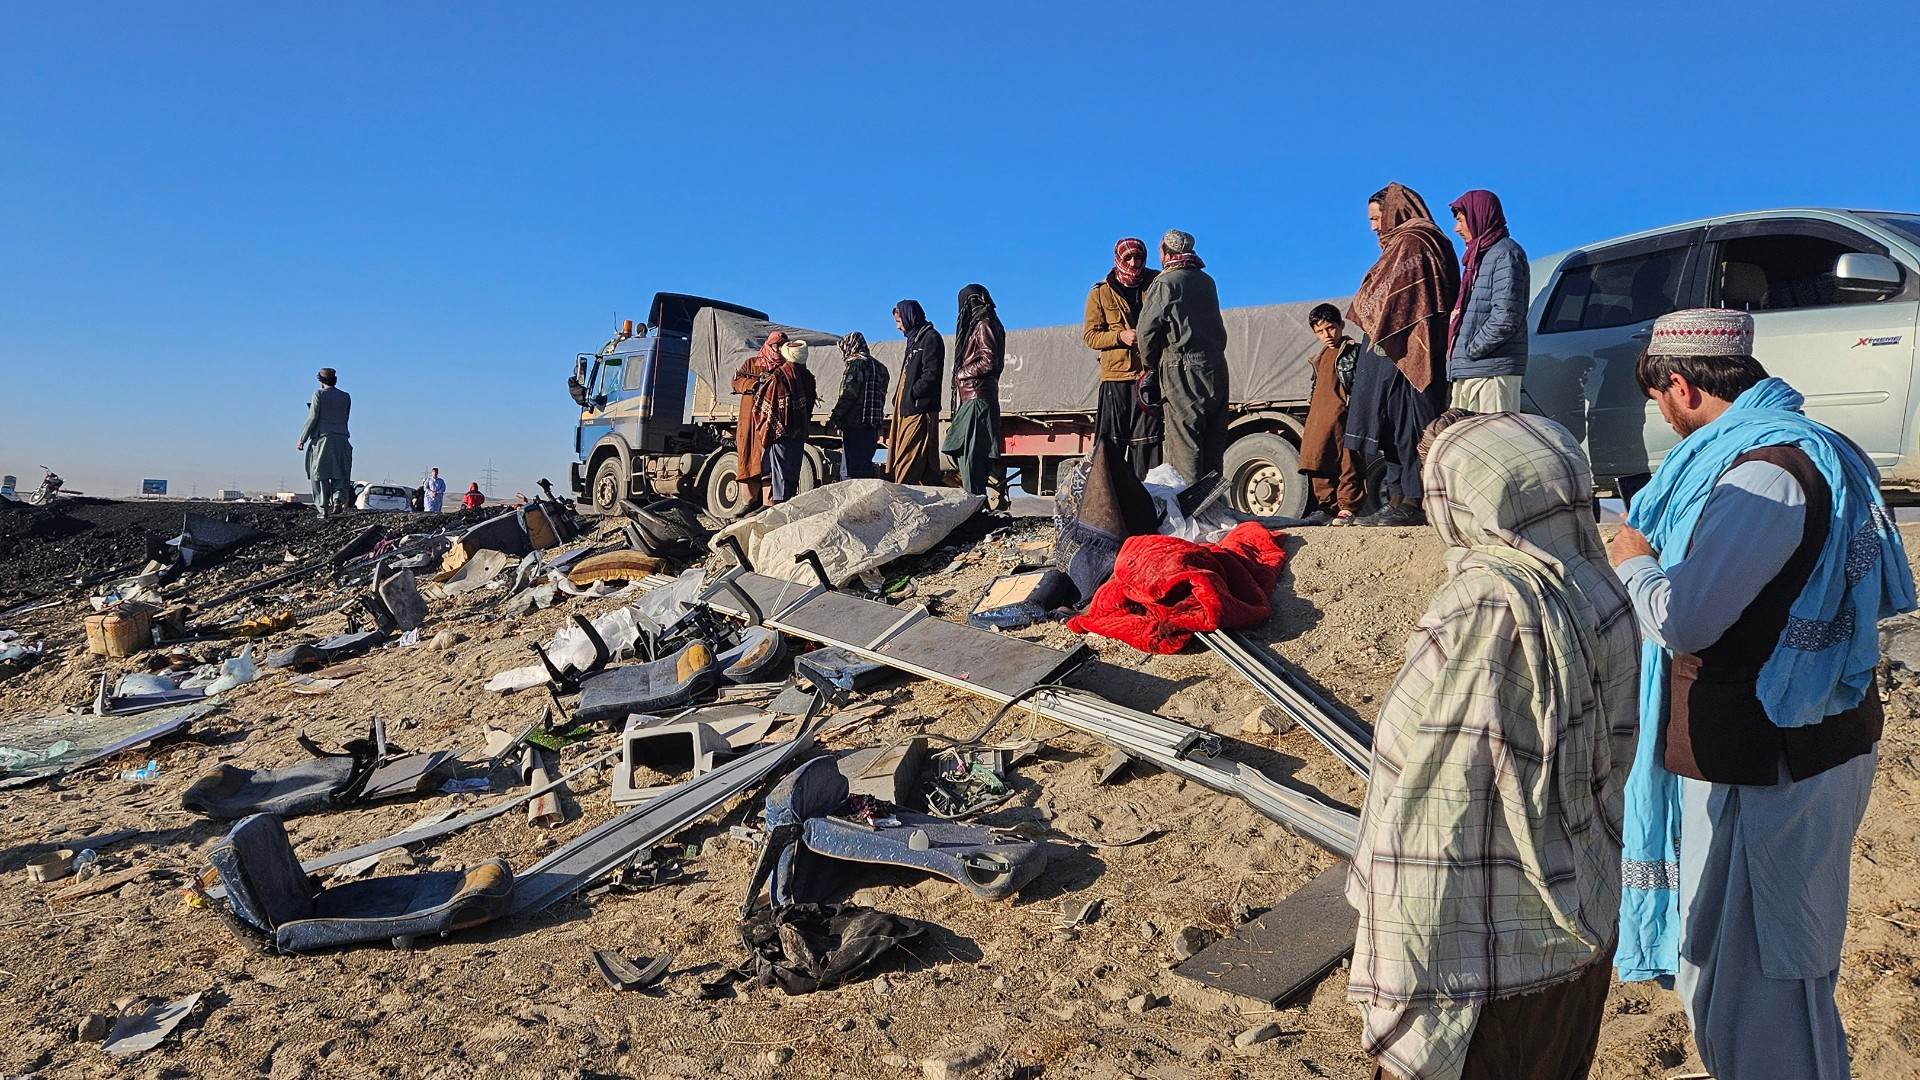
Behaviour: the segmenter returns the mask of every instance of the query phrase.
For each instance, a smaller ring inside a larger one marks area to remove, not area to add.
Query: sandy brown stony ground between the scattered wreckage
[[[922,596],[943,596],[960,617],[985,582],[1033,555],[1020,544],[1050,540],[1050,525],[1020,523],[973,548],[912,563]],[[1920,528],[1908,528],[1920,548]],[[1356,715],[1375,701],[1404,655],[1415,617],[1440,580],[1440,546],[1427,530],[1304,528],[1288,538],[1277,617],[1260,636],[1313,676]],[[1106,759],[1096,742],[1048,736],[1039,761],[1018,773],[1020,796],[993,821],[1046,821],[1064,834],[1123,840],[1127,847],[1064,844],[1046,874],[1004,903],[981,903],[958,886],[910,874],[860,872],[854,897],[935,926],[910,955],[895,953],[879,978],[804,995],[745,990],[705,1001],[697,984],[741,959],[735,917],[756,851],[726,834],[749,822],[758,799],[682,838],[703,844],[693,878],[643,894],[574,899],[524,922],[497,922],[417,951],[367,947],[315,957],[263,955],[209,911],[182,899],[188,876],[225,832],[179,809],[180,792],[217,761],[280,765],[301,757],[296,732],[340,742],[378,713],[409,749],[480,746],[482,728],[518,730],[540,700],[495,696],[480,684],[530,659],[570,613],[597,613],[612,600],[576,601],[524,619],[499,613],[497,594],[434,609],[428,634],[453,630],[449,651],[386,648],[369,671],[326,696],[296,696],[275,675],[230,694],[227,705],[180,738],[83,769],[58,784],[6,792],[0,824],[0,1074],[42,1076],[920,1076],[922,1059],[981,1042],[995,1061],[968,1076],[1283,1076],[1359,1078],[1357,1020],[1344,1003],[1340,970],[1281,1011],[1204,990],[1169,972],[1171,938],[1183,926],[1225,928],[1235,905],[1265,909],[1331,865],[1250,807],[1171,774],[1098,784]],[[328,617],[338,619],[338,617]],[[17,619],[73,638],[79,603]],[[309,626],[326,632],[324,619]],[[1062,625],[1020,632],[1071,644]],[[273,644],[284,644],[292,636]],[[1204,651],[1146,657],[1091,640],[1098,661],[1071,682],[1139,709],[1160,711],[1231,736],[1233,753],[1286,782],[1354,805],[1359,782],[1306,732],[1242,736],[1260,705],[1252,686]],[[90,701],[109,663],[61,646],[60,663],[0,682],[0,717]],[[113,671],[132,661],[111,661]],[[1920,675],[1887,673],[1889,726],[1874,801],[1855,844],[1853,915],[1839,976],[1839,1003],[1862,1078],[1920,1074],[1920,738],[1914,713]],[[899,682],[870,700],[891,713],[835,748],[885,742],[920,726],[945,734],[975,728],[991,709],[924,682]],[[1014,734],[1025,721],[1006,721]],[[611,740],[601,740],[611,744]],[[563,765],[584,761],[574,748]],[[154,757],[154,784],[127,784],[127,765]],[[303,857],[394,832],[449,805],[501,796],[426,796],[288,822]],[[453,869],[503,855],[526,867],[611,815],[603,778],[574,786],[570,821],[540,830],[505,815],[380,871],[405,865]],[[52,899],[69,882],[29,884],[23,865],[58,844],[108,830],[138,830],[102,849],[108,872],[146,871],[102,896]],[[1058,913],[1102,899],[1104,915],[1077,940],[1056,942]],[[1142,922],[1156,932],[1146,936]],[[589,969],[589,949],[624,955],[674,951],[660,988],[611,992]],[[150,999],[202,992],[202,1005],[161,1047],[129,1063],[77,1042],[90,1013],[117,1013]],[[1127,999],[1152,994],[1135,1013]],[[1236,1049],[1233,1036],[1277,1022],[1281,1038]],[[1599,1078],[1680,1076],[1697,1068],[1678,999],[1651,984],[1615,986],[1601,1032]]]

